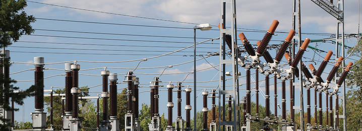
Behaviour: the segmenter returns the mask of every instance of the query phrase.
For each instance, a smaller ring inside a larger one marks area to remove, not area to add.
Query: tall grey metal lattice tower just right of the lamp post
[[[231,13],[226,15],[226,5],[230,6]],[[230,25],[225,23],[225,20],[229,19],[231,20]],[[233,99],[233,116],[234,120],[232,121],[226,121],[224,120],[224,114],[223,113],[223,120],[221,121],[221,111],[225,112],[225,106],[224,102],[221,104],[221,101],[225,101],[225,95],[232,95],[234,98],[239,97],[239,91],[238,91],[238,74],[237,74],[237,60],[238,60],[238,49],[237,49],[237,43],[236,43],[236,8],[235,8],[235,0],[231,1],[220,1],[220,25],[222,28],[220,28],[220,54],[222,52],[223,55],[219,55],[219,85],[221,86],[219,88],[219,94],[223,95],[221,100],[221,97],[219,97],[219,128],[220,131],[221,127],[224,129],[224,125],[233,125],[236,130],[240,130],[240,123],[238,122],[237,112],[239,112],[239,101]],[[225,26],[231,27],[230,29],[226,29]],[[231,47],[231,59],[225,60],[225,38],[224,36],[230,35],[230,47]],[[231,65],[232,66],[232,90],[225,90],[225,65]],[[221,105],[223,105],[221,107]]]

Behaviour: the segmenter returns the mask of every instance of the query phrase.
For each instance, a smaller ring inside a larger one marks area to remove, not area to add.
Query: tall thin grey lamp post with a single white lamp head
[[[196,29],[200,29],[201,31],[211,30],[210,24],[200,24],[194,26],[194,131],[196,131]]]

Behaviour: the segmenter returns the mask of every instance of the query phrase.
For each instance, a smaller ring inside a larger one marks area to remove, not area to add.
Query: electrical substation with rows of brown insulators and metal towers
[[[142,64],[142,62],[149,61],[150,59],[144,58],[134,60],[138,62],[138,64],[134,69],[130,69],[128,72],[111,72],[109,71],[109,67],[97,68],[102,69],[100,75],[97,75],[99,81],[102,81],[102,89],[98,90],[99,92],[97,95],[80,96],[82,92],[85,92],[81,91],[81,88],[79,87],[79,78],[82,77],[81,73],[91,70],[82,69],[81,65],[94,61],[72,60],[67,62],[57,61],[54,63],[45,63],[44,59],[47,59],[47,57],[34,57],[33,63],[12,62],[12,64],[34,65],[34,69],[29,69],[35,70],[34,85],[43,87],[42,90],[37,90],[35,92],[35,107],[34,111],[31,113],[31,130],[55,130],[54,127],[59,126],[62,130],[69,131],[83,129],[100,131],[145,131],[141,129],[141,125],[145,124],[141,123],[140,99],[146,99],[148,101],[147,104],[150,105],[150,116],[148,116],[150,120],[147,123],[150,131],[196,131],[197,126],[200,126],[200,124],[198,124],[195,119],[193,121],[191,120],[191,114],[194,114],[194,118],[196,118],[197,112],[202,113],[202,124],[201,127],[199,127],[202,131],[249,131],[253,130],[253,123],[262,123],[263,126],[258,127],[261,130],[276,130],[271,127],[273,124],[280,125],[279,130],[285,131],[299,130],[297,128],[300,128],[300,130],[346,130],[345,123],[347,121],[345,104],[342,104],[343,111],[340,111],[338,102],[340,99],[342,99],[343,102],[345,101],[346,89],[344,80],[348,73],[350,73],[350,68],[353,66],[353,63],[346,60],[344,52],[344,39],[347,37],[344,35],[344,1],[337,0],[337,3],[333,4],[333,1],[312,0],[313,3],[325,10],[332,17],[336,18],[337,21],[336,33],[338,35],[333,38],[337,43],[335,44],[336,50],[326,51],[326,55],[322,62],[320,62],[318,68],[315,68],[313,64],[304,61],[304,54],[310,53],[307,51],[308,48],[314,48],[313,46],[310,46],[310,43],[325,41],[327,39],[312,40],[304,38],[301,35],[300,10],[304,9],[300,8],[300,0],[294,0],[293,5],[291,5],[293,7],[293,16],[290,18],[293,21],[290,26],[291,30],[279,45],[269,44],[272,37],[276,35],[278,25],[283,24],[279,23],[277,20],[267,22],[270,23],[271,26],[264,32],[265,35],[263,37],[260,36],[261,41],[255,43],[252,43],[247,39],[248,32],[237,32],[236,17],[242,15],[236,14],[238,7],[235,6],[235,2],[238,1],[220,1],[220,24],[218,25],[219,37],[206,40],[218,40],[219,43],[219,52],[208,55],[208,57],[219,57],[219,63],[216,64],[218,67],[210,67],[218,68],[218,85],[216,88],[201,89],[201,87],[196,85],[198,82],[196,73],[205,70],[197,70],[196,63],[194,71],[189,73],[194,74],[194,81],[189,82],[194,85],[185,85],[184,81],[189,74],[185,79],[183,78],[179,81],[161,81],[162,78],[166,77],[164,76],[164,71],[175,65],[163,66],[162,73],[157,74],[152,80],[145,80],[142,77],[137,76],[137,73],[140,73],[138,72],[138,66]],[[194,26],[194,37],[196,37],[196,30],[200,29],[203,31],[210,30],[211,28],[210,24]],[[238,41],[241,41],[242,43],[238,44]],[[196,45],[200,43],[197,43],[195,38],[194,45],[187,47],[194,47],[195,50],[195,58],[194,61],[191,62],[196,62]],[[339,48],[342,48],[341,52]],[[274,58],[272,57],[273,55],[269,53],[268,49],[277,50]],[[4,50],[5,49],[3,49],[1,53],[6,54],[6,57],[2,58],[2,60],[10,59],[11,51]],[[335,56],[335,59],[333,59],[333,55]],[[152,58],[153,57],[151,57],[151,59]],[[334,61],[331,60],[331,58]],[[345,64],[345,62],[348,62],[348,64]],[[107,64],[111,62],[97,63]],[[325,68],[329,66],[329,63],[334,64],[331,66],[332,70],[330,71],[325,70]],[[53,88],[56,87],[51,87],[50,90],[47,89],[48,87],[44,87],[44,82],[47,81],[47,77],[44,77],[44,72],[50,69],[50,67],[48,68],[47,66],[52,64],[65,65],[64,69],[55,69],[65,71],[65,74],[63,74],[65,79],[59,78],[62,81],[65,80],[65,87],[62,87],[65,89],[64,94],[53,93]],[[341,73],[338,73],[338,69],[342,70]],[[0,69],[0,73],[4,73],[5,77],[9,78],[9,70],[10,67],[4,66],[4,68]],[[322,76],[324,71],[329,72],[329,75],[326,78],[323,78]],[[16,73],[20,72],[22,71]],[[244,76],[242,76],[242,74]],[[29,78],[30,77],[32,78],[33,76],[29,76]],[[239,80],[242,77],[245,78],[245,82]],[[148,81],[149,83],[141,83],[141,80],[143,82]],[[264,88],[259,86],[259,81],[264,82]],[[286,85],[288,82],[289,88]],[[165,87],[163,86],[163,83],[166,83]],[[278,83],[281,83],[281,94],[278,94]],[[252,84],[255,84],[255,87],[252,87]],[[117,96],[119,95],[119,91],[117,90],[120,89],[120,85],[126,86],[125,89],[127,89],[126,94],[121,94],[127,97],[127,108],[122,110],[125,112],[124,116],[118,116],[117,114],[120,110],[118,108],[119,99],[117,99]],[[271,87],[271,85],[273,85],[273,87]],[[141,94],[139,91],[139,88],[141,87],[148,88],[149,91]],[[299,93],[296,88],[299,89]],[[304,93],[303,88],[307,90],[306,94]],[[202,104],[196,103],[197,90],[202,90],[198,95],[199,99],[202,99],[203,101]],[[271,94],[272,90],[274,91],[274,95]],[[290,94],[286,94],[286,90],[289,90]],[[312,94],[314,91],[314,105],[311,103],[311,99],[313,99],[311,98],[311,90]],[[265,101],[265,111],[263,112],[265,114],[263,114],[259,108],[259,105],[262,104],[260,103],[260,99],[262,99],[259,95],[260,92],[265,94],[262,94],[265,98],[265,100],[263,100]],[[325,94],[326,97],[322,97],[322,94]],[[164,96],[163,98],[167,96],[166,102],[161,100],[161,95]],[[342,97],[340,97],[340,95]],[[44,97],[50,97],[50,105],[48,105],[51,109],[50,113],[47,113],[47,111],[44,110]],[[62,105],[64,107],[62,107],[61,111],[62,125],[54,125],[53,123],[53,97],[61,97],[64,102]],[[173,97],[176,97],[177,99],[174,99]],[[5,99],[8,101],[10,100],[9,97]],[[96,128],[84,126],[84,121],[82,121],[82,118],[79,116],[79,105],[81,104],[79,101],[82,99],[96,99]],[[304,99],[306,99],[307,102],[305,102]],[[322,99],[325,104],[322,103]],[[102,100],[101,107],[99,105],[100,100]],[[295,104],[295,100],[300,100],[298,102],[300,105]],[[305,103],[307,105],[305,105]],[[182,106],[183,104],[185,106]],[[252,104],[256,105],[255,108],[252,107]],[[274,107],[271,105],[274,105]],[[210,109],[208,106],[212,108]],[[287,109],[287,106],[289,106],[290,109]],[[202,107],[202,110],[197,110],[197,107]],[[5,110],[2,105],[0,108],[1,116],[11,119],[12,123],[14,123],[14,115],[18,115],[18,113],[15,112],[14,114],[13,111]],[[161,108],[167,109],[167,122],[161,120]],[[274,111],[272,113],[273,108]],[[304,121],[304,115],[300,115],[300,120],[298,120],[299,123],[297,123],[295,114],[304,114],[305,108],[307,109],[307,121]],[[313,111],[313,108],[315,112],[315,123],[312,123],[311,121],[311,116],[313,115],[311,111]],[[28,109],[30,109],[30,107],[28,107]],[[278,112],[278,109],[280,109],[280,112]],[[102,110],[102,113],[100,113],[99,110]],[[255,113],[252,111],[255,111]],[[325,118],[323,118],[323,111],[326,113]],[[209,115],[209,112],[211,112],[211,115]],[[287,114],[287,112],[289,112],[289,114]],[[343,113],[340,114],[340,112]],[[281,114],[280,118],[278,113]],[[176,118],[172,117],[173,114],[176,114]],[[210,116],[211,118],[208,118]],[[119,117],[122,117],[122,119],[119,119]],[[343,119],[343,128],[340,128],[339,126],[340,118]],[[50,123],[46,122],[47,119],[50,119]],[[211,119],[211,121],[208,119]],[[327,125],[324,125],[323,121],[325,121]],[[163,128],[163,124],[166,124],[165,128]],[[297,124],[300,126],[297,127]],[[120,128],[120,125],[124,125],[124,128]]]

